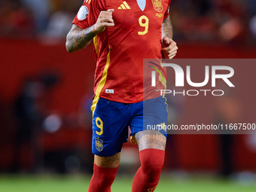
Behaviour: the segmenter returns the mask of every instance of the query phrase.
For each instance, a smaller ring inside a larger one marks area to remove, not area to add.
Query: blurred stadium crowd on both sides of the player
[[[65,38],[83,0],[2,0],[0,36]],[[256,1],[172,0],[176,41],[255,43]]]

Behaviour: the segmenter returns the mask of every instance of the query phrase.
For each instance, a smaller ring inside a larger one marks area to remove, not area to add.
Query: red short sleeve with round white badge
[[[81,29],[85,29],[85,28],[89,27],[88,15],[91,12],[90,11],[90,9],[91,9],[90,3],[91,3],[91,0],[84,0],[83,5],[79,9],[78,14],[75,16],[75,18],[72,22],[76,26],[79,26]]]

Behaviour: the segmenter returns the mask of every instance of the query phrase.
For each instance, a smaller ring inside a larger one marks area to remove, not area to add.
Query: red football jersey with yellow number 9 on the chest
[[[100,11],[114,9],[114,26],[93,39],[97,96],[124,103],[143,100],[143,59],[162,57],[162,23],[169,15],[169,3],[170,0],[84,1],[87,17],[82,17],[84,12],[79,13],[80,10],[73,22],[81,28],[95,24]],[[163,85],[162,88],[165,89]],[[154,91],[150,95],[154,98],[160,93]]]

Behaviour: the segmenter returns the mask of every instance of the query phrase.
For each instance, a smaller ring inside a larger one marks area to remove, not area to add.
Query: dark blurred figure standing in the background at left
[[[35,75],[26,78],[23,82],[14,103],[17,131],[14,140],[14,163],[11,168],[13,172],[24,171],[21,165],[23,154],[30,157],[29,163],[32,164],[26,171],[38,172],[41,168],[42,154],[38,139],[43,131],[42,124],[47,115],[47,93],[50,93],[58,82],[59,75],[53,72]]]

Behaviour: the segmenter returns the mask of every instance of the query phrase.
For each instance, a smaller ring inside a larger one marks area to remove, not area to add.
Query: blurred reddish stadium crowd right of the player
[[[170,10],[178,39],[248,44],[256,37],[254,0],[173,0]]]

